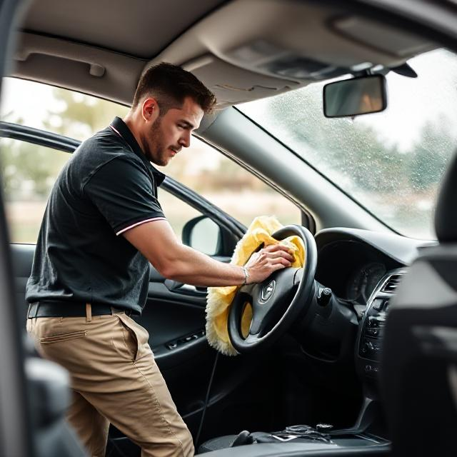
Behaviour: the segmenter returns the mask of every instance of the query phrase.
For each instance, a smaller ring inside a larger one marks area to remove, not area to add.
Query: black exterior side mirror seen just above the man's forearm
[[[208,216],[191,219],[183,228],[183,243],[209,256],[219,253],[221,238],[221,227]]]

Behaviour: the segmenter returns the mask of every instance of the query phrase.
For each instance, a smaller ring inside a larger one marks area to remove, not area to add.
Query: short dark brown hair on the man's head
[[[191,97],[205,113],[216,104],[216,97],[189,71],[180,66],[166,64],[151,66],[141,75],[136,86],[132,108],[138,106],[144,96],[156,99],[161,116],[170,108],[181,108],[186,97]]]

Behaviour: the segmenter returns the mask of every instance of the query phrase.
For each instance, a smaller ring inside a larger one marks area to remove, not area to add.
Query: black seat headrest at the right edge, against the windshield
[[[449,162],[435,210],[435,230],[440,243],[457,243],[457,154]]]

